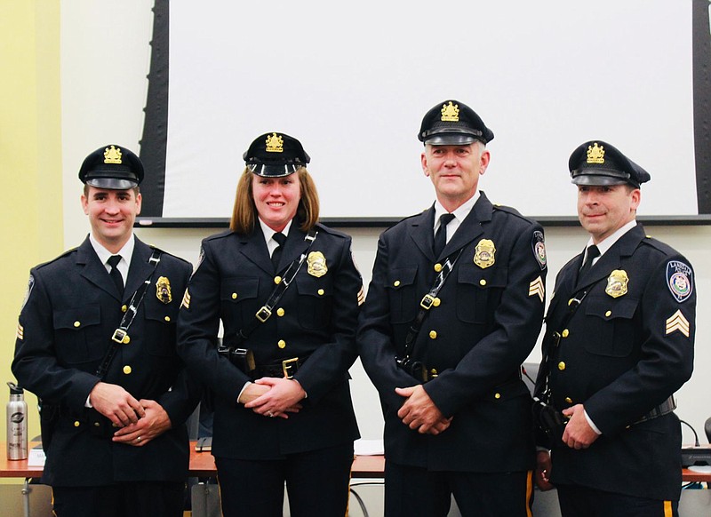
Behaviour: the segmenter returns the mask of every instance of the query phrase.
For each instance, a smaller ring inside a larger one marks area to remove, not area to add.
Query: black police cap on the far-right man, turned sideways
[[[627,183],[639,188],[650,180],[649,172],[603,140],[590,140],[581,144],[572,152],[568,168],[575,185]]]

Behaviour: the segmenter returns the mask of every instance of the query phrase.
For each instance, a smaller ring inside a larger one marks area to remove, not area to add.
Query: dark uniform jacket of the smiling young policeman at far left
[[[136,238],[123,299],[88,237],[78,248],[30,272],[12,372],[45,404],[60,406],[46,450],[44,483],[103,486],[182,481],[188,475],[184,422],[200,394],[176,353],[175,325],[191,267],[163,252],[154,270],[148,263],[152,251]],[[158,402],[172,428],[143,447],[133,447],[112,442],[116,429],[84,404],[100,380],[95,374],[124,315],[122,306],[149,276],[151,283],[128,330],[130,341],[118,346],[104,381],[123,386],[137,400]],[[159,277],[170,283],[168,303],[157,296]]]

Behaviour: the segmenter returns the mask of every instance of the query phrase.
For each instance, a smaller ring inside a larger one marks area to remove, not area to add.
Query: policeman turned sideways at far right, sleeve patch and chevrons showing
[[[590,240],[548,308],[537,393],[570,421],[562,440],[539,441],[553,450],[539,452],[537,481],[555,484],[564,516],[677,515],[672,395],[693,368],[693,270],[635,221],[647,171],[602,140],[575,149],[569,168]]]

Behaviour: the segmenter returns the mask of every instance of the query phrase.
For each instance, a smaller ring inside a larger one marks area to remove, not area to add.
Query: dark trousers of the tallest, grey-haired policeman
[[[531,517],[531,471],[433,472],[385,464],[386,517],[443,517],[449,513],[452,494],[464,517]]]

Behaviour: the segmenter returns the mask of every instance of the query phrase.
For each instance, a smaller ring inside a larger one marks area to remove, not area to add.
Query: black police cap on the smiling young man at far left
[[[79,179],[90,187],[128,190],[143,180],[143,163],[127,148],[111,144],[84,158]]]

